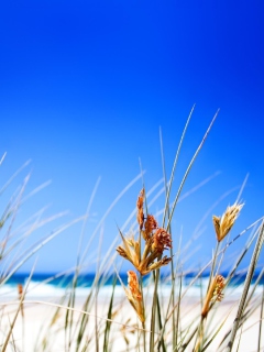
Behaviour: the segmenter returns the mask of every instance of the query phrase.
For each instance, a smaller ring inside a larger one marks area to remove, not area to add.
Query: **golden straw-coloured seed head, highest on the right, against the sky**
[[[227,208],[221,218],[212,217],[218,242],[221,242],[232,229],[243,206],[243,204],[235,202],[233,206]]]

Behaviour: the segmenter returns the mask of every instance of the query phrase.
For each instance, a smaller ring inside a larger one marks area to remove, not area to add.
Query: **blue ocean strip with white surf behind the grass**
[[[228,273],[221,273],[224,277],[227,277]],[[260,275],[255,273],[251,283],[251,289],[253,289],[254,284]],[[29,273],[19,273],[14,274],[4,285],[0,285],[0,299],[16,299],[18,298],[18,285],[25,286],[30,274]],[[184,293],[191,280],[195,278],[196,273],[187,273],[183,276],[182,280],[182,293]],[[246,273],[242,273],[240,275],[234,275],[230,280],[228,287],[226,288],[226,295],[229,299],[239,299],[241,293],[243,290],[243,283],[245,280]],[[38,273],[33,274],[31,282],[29,284],[26,290],[26,298],[52,298],[52,297],[63,297],[67,292],[69,292],[73,284],[74,274],[70,275],[59,275],[59,274],[51,274],[51,273]],[[122,283],[127,286],[128,276],[127,273],[120,274],[120,278]],[[76,296],[85,297],[91,290],[91,287],[95,283],[96,274],[81,274],[78,277],[77,286],[76,286]],[[116,280],[116,275],[109,275],[108,277],[101,276],[99,279],[100,290],[99,296],[108,296],[112,293],[113,282]],[[199,298],[201,295],[201,290],[205,293],[207,289],[209,280],[209,275],[204,274],[200,278],[198,278],[195,284],[189,287],[185,294],[185,296],[190,298]],[[258,285],[255,289],[254,295],[261,295],[264,285],[264,277],[262,276]],[[152,276],[148,275],[144,277],[144,286],[151,289],[153,287]],[[177,294],[178,284],[176,283],[176,294]],[[172,288],[172,283],[166,275],[161,277],[160,289],[164,296],[169,296]],[[147,289],[147,288],[146,288]],[[117,279],[117,286],[114,289],[114,295],[122,297],[124,296],[123,287],[120,283],[120,279]]]

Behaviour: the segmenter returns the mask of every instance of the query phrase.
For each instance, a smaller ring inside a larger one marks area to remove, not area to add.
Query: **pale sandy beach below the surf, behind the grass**
[[[82,309],[85,297],[78,297],[76,301],[76,312],[74,315],[74,321],[77,322],[78,318],[82,316],[80,310]],[[4,341],[4,332],[12,323],[12,319],[18,308],[18,302],[10,304],[7,301],[7,306],[2,310],[1,317],[1,344]],[[7,351],[15,351],[12,346],[14,342],[16,345],[16,351],[26,352],[38,352],[38,351],[50,351],[50,352],[64,352],[64,351],[75,351],[75,341],[77,336],[77,330],[75,330],[76,324],[73,324],[73,330],[65,334],[65,312],[66,309],[62,308],[59,314],[54,316],[56,312],[56,304],[58,300],[45,299],[45,297],[40,297],[36,299],[25,299],[23,306],[24,316],[22,317],[21,311],[16,318],[14,324],[13,333],[10,338],[10,343]],[[2,306],[3,307],[3,306]],[[146,307],[148,309],[151,307]],[[235,318],[238,308],[238,301],[222,301],[221,305],[217,307],[216,312],[211,311],[211,317],[208,317],[207,327],[213,330],[216,326],[223,323],[220,333],[215,339],[213,343],[207,349],[209,352],[222,351],[218,349],[218,345],[229,331],[232,322]],[[187,326],[194,317],[198,317],[200,311],[199,302],[195,299],[188,298],[180,306],[180,326],[182,329]],[[96,349],[96,333],[99,338],[99,351],[103,351],[103,327],[106,326],[106,318],[108,312],[108,304],[103,302],[100,298],[97,305],[94,305],[92,309],[89,311],[89,322],[86,328],[86,339],[89,341],[89,348],[87,351],[97,351]],[[134,327],[139,323],[135,314],[129,302],[124,299],[118,299],[113,307],[113,323],[111,326],[111,345],[112,351],[134,351],[138,332]],[[97,316],[97,318],[96,318]],[[228,316],[228,318],[227,318]],[[227,318],[227,320],[224,320]],[[197,320],[198,321],[198,320]],[[257,339],[260,330],[260,307],[256,309],[252,316],[246,320],[243,326],[243,333],[240,338],[240,352],[256,352],[257,351]],[[127,323],[127,326],[124,326]],[[141,324],[138,324],[139,327]],[[97,327],[97,328],[96,328]],[[131,328],[129,328],[131,327]],[[146,327],[150,327],[148,321],[146,321]],[[147,341],[148,341],[148,333]],[[239,341],[240,331],[238,333],[237,342],[233,351],[237,351],[237,344]],[[169,341],[169,333],[165,337],[166,341]],[[70,348],[69,341],[72,343]],[[129,342],[129,344],[127,344]],[[263,351],[262,341],[262,351]],[[129,348],[128,348],[129,346]],[[191,351],[194,343],[190,344],[189,349],[185,351]],[[143,349],[142,349],[143,351]],[[172,351],[172,348],[168,348]]]

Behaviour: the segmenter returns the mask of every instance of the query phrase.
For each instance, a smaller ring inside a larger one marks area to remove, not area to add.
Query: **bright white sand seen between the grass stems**
[[[78,299],[76,308],[81,309],[82,300],[84,298]],[[122,305],[122,308],[120,308],[119,304],[120,301],[116,302],[117,315],[113,318],[114,321],[124,323],[127,320],[131,319],[128,321],[129,326],[133,326],[133,323],[136,323],[138,320],[130,304],[125,300]],[[238,302],[234,308],[233,306],[234,306],[234,302],[222,301],[219,305],[217,314],[215,315],[212,321],[210,321],[210,317],[209,317],[207,324],[209,326],[209,329],[211,329],[216,327],[216,324],[217,326],[221,324],[222,321],[224,320],[224,317],[227,317],[227,315],[230,312],[230,316],[224,322],[221,332],[216,338],[215,343],[210,348],[208,348],[207,351],[209,352],[221,351],[221,349],[219,350],[217,345],[219,344],[224,333],[230,329],[235,318]],[[14,317],[16,307],[18,305],[12,304],[12,305],[8,305],[3,310],[2,319],[1,319],[1,344],[4,341],[3,332],[6,331],[7,333],[8,328]],[[113,310],[116,310],[116,308]],[[107,309],[108,309],[108,305],[103,305],[102,299],[100,299],[97,315],[99,317],[106,318]],[[150,309],[150,307],[146,307],[146,309]],[[44,340],[47,343],[45,351],[48,351],[48,352],[67,351],[67,349],[65,348],[65,343],[68,338],[65,339],[65,332],[64,332],[66,310],[62,309],[61,316],[58,317],[56,322],[52,323],[52,327],[51,327],[51,320],[53,318],[55,310],[56,310],[56,307],[48,306],[45,304],[26,302],[24,305],[24,319],[22,318],[21,314],[19,314],[14,329],[13,329],[13,334],[10,338],[10,342],[12,342],[13,340],[16,346],[19,346],[18,351],[24,351],[24,352],[43,351]],[[188,322],[191,321],[191,319],[194,319],[195,317],[198,317],[199,310],[200,310],[199,305],[194,300],[185,301],[182,305],[182,310],[180,310],[182,327],[188,324]],[[95,314],[95,312],[96,311],[94,306],[91,314]],[[78,316],[79,316],[79,312],[76,312],[74,317],[75,321],[78,320]],[[211,316],[213,316],[213,311],[211,311]],[[260,321],[260,307],[252,315],[252,317],[248,319],[246,323],[243,327],[243,334],[241,337],[240,349],[239,349],[240,352],[257,351],[257,337],[258,337],[258,327],[260,327],[258,321]],[[101,329],[101,324],[103,329],[106,321],[98,318],[97,322],[99,327],[98,329],[99,330]],[[74,324],[74,327],[75,326],[76,324]],[[94,316],[90,316],[89,324],[85,334],[86,334],[86,338],[91,339],[92,342],[90,343],[87,351],[96,351],[95,337],[97,331],[95,327],[96,327],[96,318]],[[147,327],[150,327],[150,321],[146,321],[146,329]],[[125,351],[125,340],[122,336],[122,331],[124,331],[125,337],[130,340],[131,343],[136,340],[136,333],[132,333],[131,331],[129,331],[129,329],[123,329],[122,324],[113,323],[111,328],[111,339],[113,339],[112,351],[116,351],[116,352]],[[74,329],[72,333],[73,336],[76,337],[76,331]],[[146,336],[148,341],[148,333]],[[239,337],[239,333],[238,333],[238,337]],[[167,340],[169,341],[169,339],[170,337],[168,336]],[[263,341],[262,341],[261,351],[263,351],[264,338],[262,340]],[[75,339],[72,340],[72,343],[73,344],[75,343]],[[190,344],[190,346],[191,348],[194,346],[194,342]],[[191,351],[191,348],[186,349],[186,351]],[[11,346],[11,343],[9,344],[7,351],[14,351],[13,348]],[[74,345],[69,351],[75,351]],[[99,339],[99,351],[103,351],[102,338]],[[132,348],[130,351],[134,351],[134,348]],[[172,348],[168,348],[168,351],[172,351]],[[237,351],[235,346],[233,351]]]

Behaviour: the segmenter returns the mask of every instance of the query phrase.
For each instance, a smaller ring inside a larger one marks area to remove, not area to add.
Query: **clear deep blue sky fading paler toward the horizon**
[[[42,219],[68,211],[34,231],[15,253],[23,253],[53,229],[82,216],[100,177],[81,245],[84,251],[98,227],[88,251],[91,260],[87,271],[94,271],[95,258],[103,257],[113,243],[117,224],[121,228],[134,210],[141,178],[109,212],[102,227],[98,226],[100,219],[140,175],[139,158],[146,191],[162,179],[160,128],[166,172],[170,174],[195,103],[172,199],[220,108],[183,195],[211,179],[178,204],[173,220],[175,248],[179,234],[183,245],[188,243],[205,218],[186,265],[197,267],[211,257],[216,244],[211,216],[220,216],[237,199],[246,174],[242,194],[245,206],[232,237],[261,218],[263,10],[263,2],[256,0],[2,2],[0,154],[7,152],[7,156],[0,169],[1,187],[28,160],[31,163],[1,195],[1,210],[30,173],[25,197],[43,183],[52,183],[23,204],[13,231],[45,206],[48,208]],[[155,193],[162,186],[160,183]],[[164,194],[150,212],[155,215],[163,206]],[[134,218],[127,230],[133,222]],[[36,271],[58,272],[75,265],[80,232],[79,222],[41,250]],[[19,237],[25,230],[14,233]],[[235,243],[224,266],[232,265],[232,253],[242,250],[248,237]],[[21,271],[30,271],[34,260]],[[262,254],[262,265],[263,260]]]

